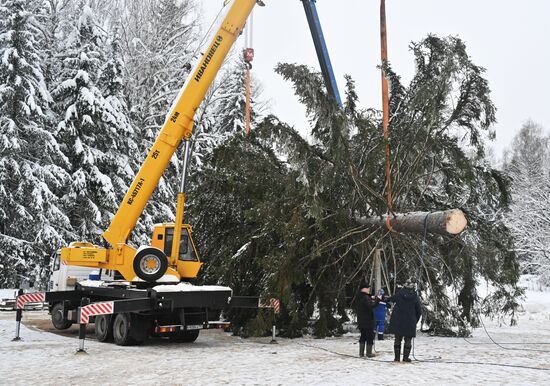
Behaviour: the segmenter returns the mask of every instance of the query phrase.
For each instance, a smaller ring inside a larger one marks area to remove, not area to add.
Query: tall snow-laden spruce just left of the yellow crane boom
[[[68,36],[61,83],[53,91],[61,117],[57,136],[70,162],[63,205],[77,237],[96,243],[125,193],[135,148],[119,100],[117,49],[107,59],[103,39],[91,8],[83,5]]]

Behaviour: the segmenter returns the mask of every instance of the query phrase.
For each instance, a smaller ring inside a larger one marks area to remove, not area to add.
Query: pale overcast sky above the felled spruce
[[[272,112],[296,128],[307,126],[305,110],[291,85],[273,72],[278,62],[318,68],[299,0],[264,0],[254,16],[253,72],[262,82]],[[222,0],[204,0],[210,25]],[[363,107],[381,108],[379,0],[318,0],[340,92],[344,74],[356,81]],[[527,119],[550,129],[550,1],[386,0],[389,60],[405,84],[414,72],[411,41],[428,33],[461,37],[475,64],[484,67],[498,108],[497,155]],[[244,44],[244,39],[239,40]]]

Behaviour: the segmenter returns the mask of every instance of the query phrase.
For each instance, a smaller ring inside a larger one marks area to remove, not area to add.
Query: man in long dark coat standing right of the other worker
[[[390,320],[390,331],[395,335],[393,350],[395,361],[399,362],[401,355],[401,341],[403,346],[403,362],[410,362],[411,340],[416,336],[416,324],[420,320],[420,301],[414,290],[414,282],[407,280],[402,289],[386,301],[395,303]]]

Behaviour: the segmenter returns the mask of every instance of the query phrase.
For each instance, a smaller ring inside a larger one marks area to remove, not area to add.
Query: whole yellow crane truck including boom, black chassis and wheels
[[[222,286],[194,286],[183,280],[196,278],[201,262],[192,228],[183,223],[185,179],[189,140],[194,115],[220,70],[246,20],[261,0],[234,0],[202,58],[190,73],[152,148],[130,185],[108,229],[103,233],[108,248],[89,242],[72,242],[58,259],[67,266],[97,269],[122,281],[88,280],[72,283],[74,289],[46,292],[52,323],[57,329],[77,323],[83,303],[109,308],[96,314],[99,341],[139,344],[151,335],[167,335],[178,342],[192,342],[201,329],[223,325],[220,311],[231,307],[258,306],[257,297],[233,296]],[[150,245],[134,248],[128,239],[170,159],[184,142],[185,152],[173,223],[154,226]],[[80,322],[79,322],[80,323]]]

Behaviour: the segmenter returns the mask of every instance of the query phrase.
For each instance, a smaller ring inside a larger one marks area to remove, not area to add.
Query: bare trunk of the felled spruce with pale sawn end
[[[440,235],[457,235],[468,225],[464,212],[460,209],[451,209],[441,212],[411,212],[389,215],[391,227],[395,232],[401,233],[427,233]],[[356,220],[361,225],[378,226],[387,228],[387,216],[382,217],[358,217]]]

